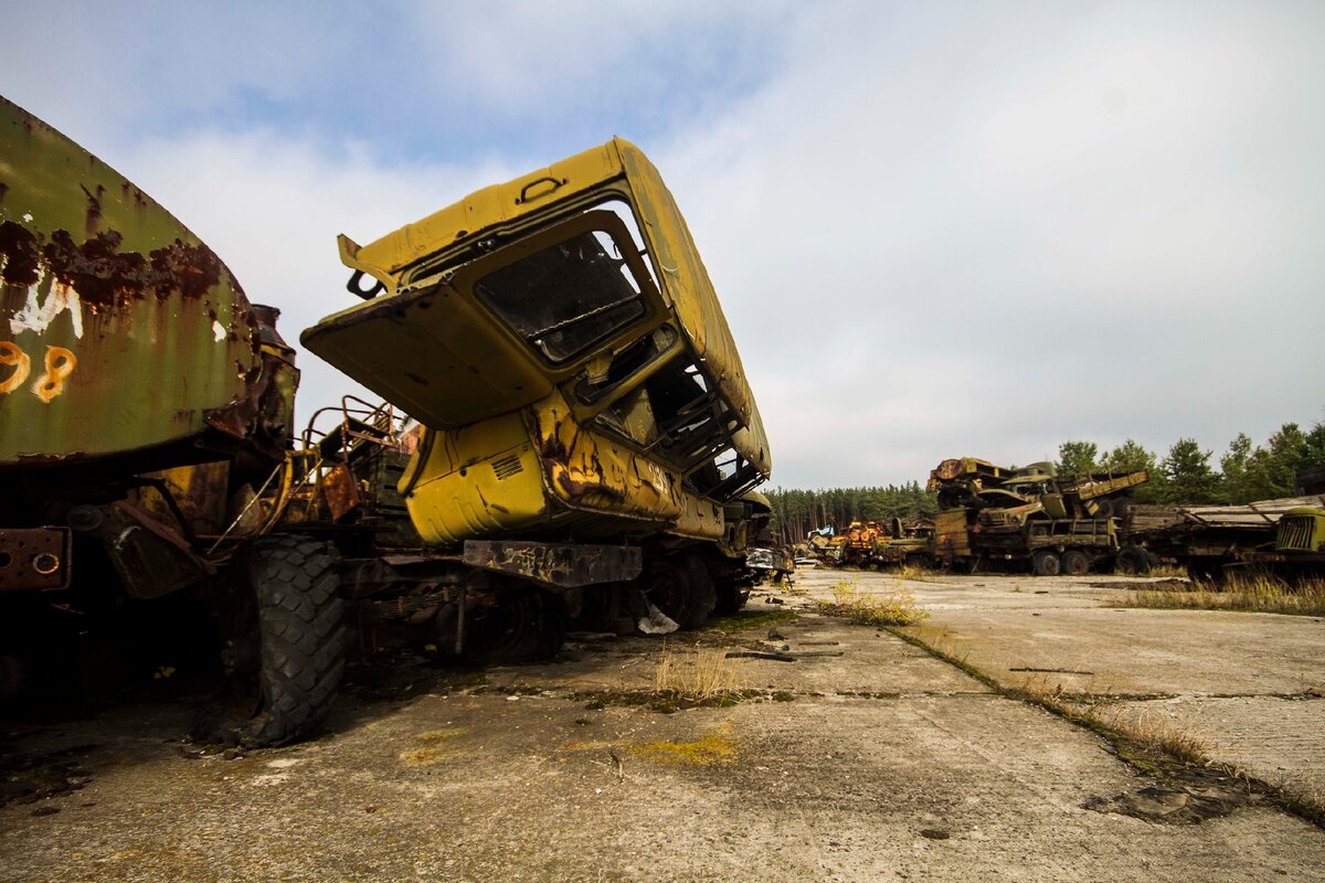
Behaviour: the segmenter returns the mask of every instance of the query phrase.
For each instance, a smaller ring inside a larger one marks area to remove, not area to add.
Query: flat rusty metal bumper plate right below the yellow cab
[[[464,563],[558,589],[633,580],[644,568],[637,547],[518,540],[466,540]]]

